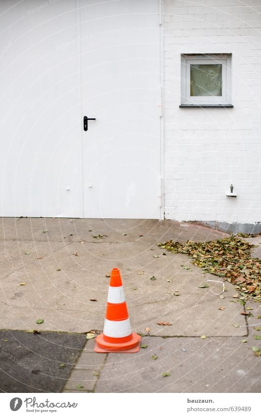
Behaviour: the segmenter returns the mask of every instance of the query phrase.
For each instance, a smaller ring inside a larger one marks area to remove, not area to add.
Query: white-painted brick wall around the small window
[[[164,6],[165,217],[260,222],[261,0]],[[179,108],[189,53],[232,53],[233,109]],[[237,198],[226,197],[231,183]]]

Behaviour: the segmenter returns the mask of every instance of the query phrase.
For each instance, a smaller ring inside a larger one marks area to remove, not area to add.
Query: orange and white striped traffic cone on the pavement
[[[95,352],[135,353],[141,336],[132,332],[119,268],[111,272],[103,333],[96,337]]]

